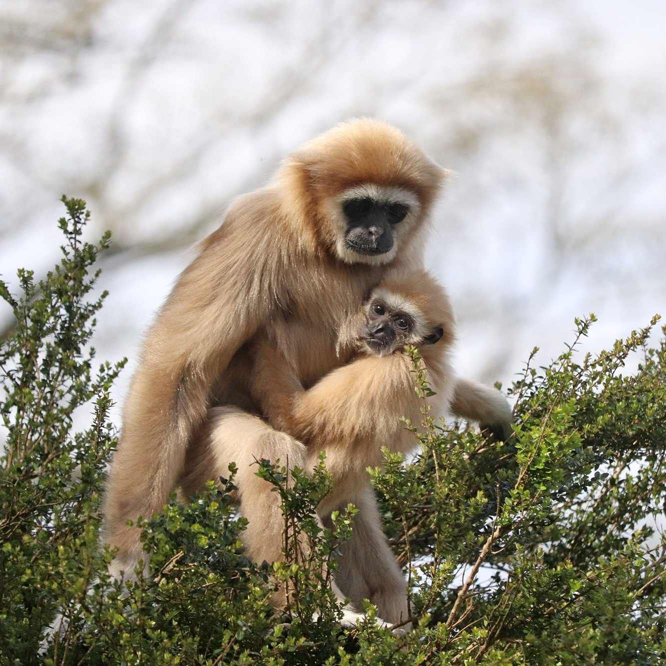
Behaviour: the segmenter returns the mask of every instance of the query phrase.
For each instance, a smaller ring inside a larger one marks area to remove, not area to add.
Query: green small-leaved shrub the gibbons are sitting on
[[[93,371],[104,294],[87,300],[109,234],[83,242],[85,203],[63,201],[60,264],[39,284],[20,271],[20,298],[0,282],[16,319],[0,352],[0,663],[664,663],[666,541],[651,517],[666,500],[666,343],[648,350],[647,328],[580,358],[592,317],[549,367],[527,364],[511,388],[508,443],[430,420],[418,455],[387,452],[373,473],[410,584],[408,635],[337,624],[322,565],[334,567],[354,510],[334,529],[310,519],[329,482],[323,466],[297,471],[293,488],[284,470],[258,468],[282,498],[288,544],[309,541],[306,561],[243,557],[231,469],[222,490],[210,484],[188,505],[172,498],[143,521],[150,575],[127,589],[110,581],[99,497],[116,444],[109,389],[123,363]],[[621,374],[637,352],[637,372]],[[85,410],[89,427],[73,432]],[[271,609],[270,570],[298,591],[286,616]],[[40,647],[59,612],[63,630]]]

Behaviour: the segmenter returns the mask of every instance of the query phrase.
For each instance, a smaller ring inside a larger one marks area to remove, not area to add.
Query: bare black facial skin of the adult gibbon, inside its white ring
[[[353,196],[342,203],[347,222],[347,248],[365,256],[390,252],[396,224],[410,212],[408,202],[376,200],[371,196]]]

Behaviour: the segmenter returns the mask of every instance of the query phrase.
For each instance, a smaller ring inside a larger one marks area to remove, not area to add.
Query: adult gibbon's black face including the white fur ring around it
[[[344,190],[333,205],[336,251],[348,263],[390,262],[420,212],[410,190],[372,183]]]

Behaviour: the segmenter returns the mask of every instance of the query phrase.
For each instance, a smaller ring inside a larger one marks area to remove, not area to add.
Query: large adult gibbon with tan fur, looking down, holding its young
[[[241,503],[252,498],[242,507],[248,543],[281,543],[277,494],[249,463],[302,466],[305,446],[262,423],[219,458],[202,437],[208,409],[258,413],[251,351],[274,329],[303,386],[348,361],[336,353],[340,322],[389,270],[420,265],[445,173],[394,127],[356,119],[304,144],[268,186],[232,202],[157,314],[125,402],[104,505],[113,575],[133,575],[145,558],[128,519],[161,511],[184,478],[226,475],[231,460]]]

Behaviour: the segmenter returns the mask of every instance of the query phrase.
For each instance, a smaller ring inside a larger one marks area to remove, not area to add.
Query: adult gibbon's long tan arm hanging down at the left
[[[269,248],[270,204],[266,192],[236,202],[178,279],[149,333],[105,498],[107,541],[119,547],[121,560],[141,553],[138,530],[128,531],[125,522],[161,510],[182,472],[188,440],[204,420],[212,383],[280,305],[284,267]],[[248,247],[256,248],[252,271],[239,266]]]

